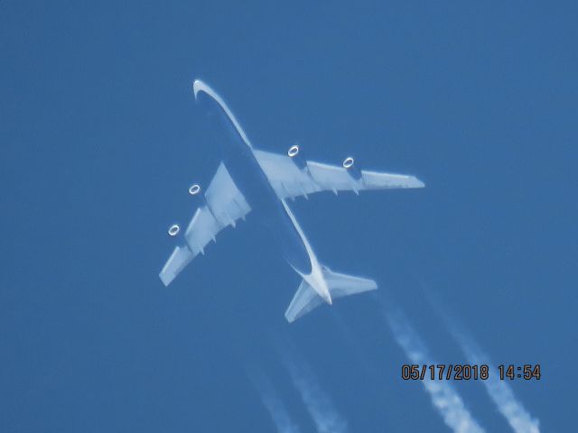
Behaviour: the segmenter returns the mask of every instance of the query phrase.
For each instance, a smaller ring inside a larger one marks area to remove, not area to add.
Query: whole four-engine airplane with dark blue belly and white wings
[[[245,220],[254,211],[275,237],[286,262],[302,278],[284,313],[288,322],[323,302],[331,305],[333,299],[376,290],[376,281],[333,272],[319,262],[287,199],[308,198],[321,191],[335,195],[338,191],[353,191],[359,195],[366,189],[423,188],[424,182],[415,176],[359,170],[350,156],[341,166],[305,161],[298,144],[292,145],[286,155],[256,149],[215,90],[196,79],[192,91],[211,123],[226,135],[219,141],[223,161],[204,194],[197,183],[189,188],[189,193],[200,197],[204,205],[197,208],[184,234],[179,235],[181,228],[176,224],[168,230],[179,243],[159,274],[164,285],[171,284],[195,256],[204,254],[207,244],[216,242],[221,230],[235,227],[239,219]]]

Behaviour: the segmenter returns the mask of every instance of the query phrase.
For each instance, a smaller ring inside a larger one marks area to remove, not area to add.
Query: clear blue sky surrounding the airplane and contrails
[[[351,432],[450,431],[401,380],[383,318],[395,305],[434,359],[465,362],[429,296],[495,364],[542,364],[512,389],[544,431],[572,431],[576,13],[4,2],[0,429],[275,431],[256,369],[316,431],[293,363]],[[377,296],[287,325],[299,279],[248,217],[163,287],[166,228],[219,163],[194,78],[256,147],[425,181],[292,205],[322,262],[376,279]],[[511,431],[480,382],[452,385],[486,431]]]

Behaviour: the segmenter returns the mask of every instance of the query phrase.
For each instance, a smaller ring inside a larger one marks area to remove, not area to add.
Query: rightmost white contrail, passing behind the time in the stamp
[[[446,320],[450,331],[461,346],[461,350],[470,364],[489,365],[489,378],[482,381],[488,392],[489,398],[498,407],[499,413],[508,421],[509,426],[516,433],[539,433],[539,420],[532,418],[522,403],[517,400],[516,395],[508,382],[504,382],[498,377],[498,369],[491,364],[488,355],[485,355],[471,336],[465,332],[458,331],[455,325]]]

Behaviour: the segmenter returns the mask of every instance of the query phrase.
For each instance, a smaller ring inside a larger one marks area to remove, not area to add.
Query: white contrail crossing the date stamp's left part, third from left
[[[403,313],[389,310],[386,318],[397,344],[401,346],[412,364],[435,364],[428,354],[427,347],[416,334],[414,328],[407,322]],[[452,431],[458,433],[481,433],[485,431],[480,427],[478,421],[472,418],[470,411],[461,400],[460,394],[450,383],[443,380],[432,380],[427,376],[428,374],[425,374],[424,380],[421,381],[425,391],[430,395],[433,407],[440,413],[443,422],[452,428]]]

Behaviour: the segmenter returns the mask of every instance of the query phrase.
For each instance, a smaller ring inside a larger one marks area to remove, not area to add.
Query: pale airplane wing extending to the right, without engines
[[[293,158],[278,153],[255,151],[259,164],[280,198],[307,197],[320,191],[359,191],[366,189],[423,188],[415,176],[360,170],[358,176],[344,167],[306,161],[300,168]]]

